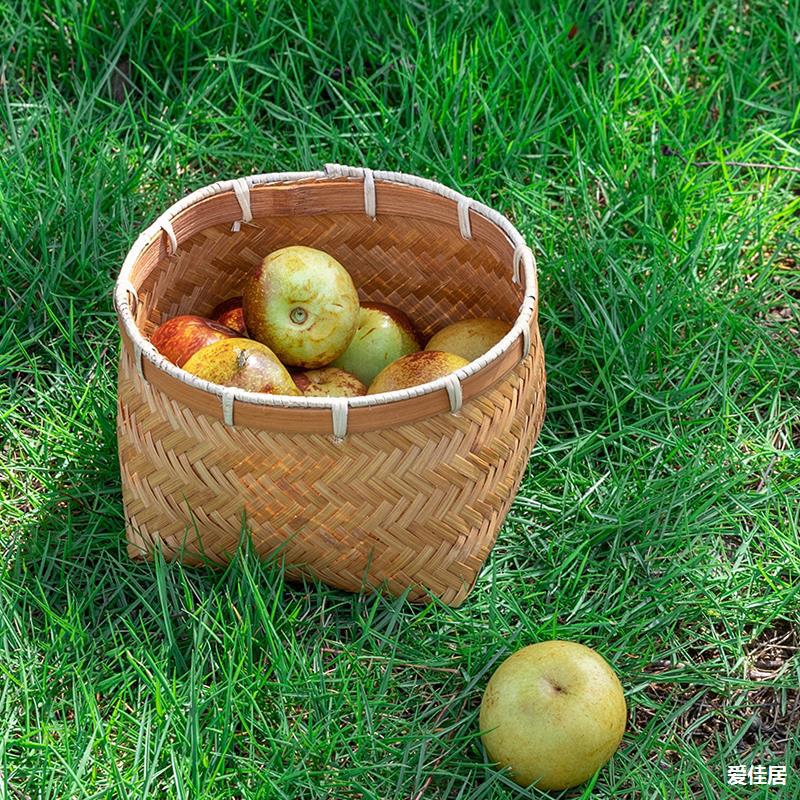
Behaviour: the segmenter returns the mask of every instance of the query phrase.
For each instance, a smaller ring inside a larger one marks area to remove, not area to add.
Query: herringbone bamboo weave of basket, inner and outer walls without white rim
[[[451,212],[449,219],[382,213],[383,196],[379,186],[374,220],[357,208],[298,209],[296,199],[287,208],[280,196],[270,200],[271,213],[256,209],[238,231],[231,230],[235,213],[195,220],[178,237],[177,251],[159,241],[157,254],[151,248],[149,261],[135,262],[136,327],[149,337],[175,314],[207,314],[238,293],[253,265],[288,244],[330,252],[348,268],[362,300],[402,308],[425,336],[467,316],[516,318],[523,288],[510,280],[513,247],[504,237],[476,219],[465,239]],[[544,416],[535,314],[527,355],[514,359],[509,350],[499,378],[465,392],[457,413],[394,417],[401,406],[386,403],[357,409],[357,417],[351,409],[353,424],[340,439],[331,437],[324,409],[237,403],[234,424],[226,424],[216,400],[198,405],[149,361],[137,369],[136,348],[121,330],[117,428],[132,557],[150,557],[158,547],[187,563],[224,562],[244,521],[256,551],[279,554],[290,577],[313,575],[348,590],[410,587],[412,600],[464,600]],[[463,385],[479,385],[487,369]],[[405,400],[407,407],[433,402],[432,395]],[[435,402],[441,408],[446,396]]]

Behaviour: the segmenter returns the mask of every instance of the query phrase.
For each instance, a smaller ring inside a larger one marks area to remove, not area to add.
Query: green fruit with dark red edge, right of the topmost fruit
[[[355,336],[333,366],[352,372],[369,385],[392,361],[421,349],[419,334],[400,309],[385,303],[362,303]]]

